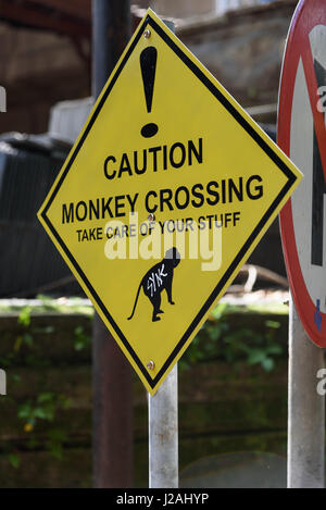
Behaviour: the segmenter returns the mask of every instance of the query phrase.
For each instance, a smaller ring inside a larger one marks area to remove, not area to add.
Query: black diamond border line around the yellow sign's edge
[[[54,198],[55,198],[55,196],[57,196],[57,194],[58,194],[58,191],[59,191],[59,189],[60,189],[60,187],[61,187],[67,172],[70,171],[73,162],[75,161],[75,159],[76,159],[83,144],[85,142],[85,140],[87,138],[88,133],[90,132],[91,127],[93,126],[93,124],[95,124],[95,122],[96,122],[96,120],[97,120],[97,117],[98,117],[104,102],[106,101],[108,96],[110,95],[110,92],[111,92],[111,90],[112,90],[118,75],[121,74],[123,67],[125,66],[127,60],[129,59],[135,46],[137,45],[139,38],[141,37],[141,35],[142,35],[143,30],[146,29],[147,25],[150,25],[159,34],[159,36],[161,36],[161,38],[175,52],[175,54],[187,65],[187,67],[190,71],[192,71],[192,73],[201,80],[201,83],[213,94],[213,96],[215,96],[215,98],[225,107],[225,109],[233,115],[233,117],[243,127],[243,129],[254,139],[254,141],[264,150],[264,152],[271,158],[271,160],[273,160],[274,163],[279,167],[279,170],[288,177],[288,182],[286,183],[284,188],[280,190],[280,192],[276,197],[276,199],[274,200],[274,202],[272,203],[269,209],[266,211],[266,213],[260,220],[260,222],[258,223],[258,225],[255,226],[255,228],[251,233],[250,237],[244,242],[244,245],[242,246],[242,248],[240,249],[240,251],[236,256],[233,263],[226,270],[223,277],[221,278],[221,281],[216,285],[215,289],[213,290],[213,293],[211,294],[211,296],[209,297],[206,302],[203,304],[203,307],[199,310],[198,314],[196,315],[196,318],[191,322],[190,326],[187,328],[187,331],[185,332],[185,334],[183,335],[183,337],[178,341],[177,346],[175,347],[173,352],[170,354],[170,357],[165,361],[164,365],[162,366],[162,369],[160,370],[160,372],[156,374],[156,376],[154,378],[150,377],[147,369],[143,366],[143,364],[139,360],[138,356],[134,351],[133,347],[129,345],[128,340],[125,338],[124,334],[122,333],[122,331],[120,329],[117,324],[114,322],[112,315],[109,313],[109,311],[104,307],[104,304],[101,301],[99,295],[93,289],[93,287],[90,284],[89,279],[87,278],[87,276],[83,272],[82,268],[78,265],[77,261],[75,260],[73,254],[70,252],[68,248],[63,242],[63,240],[59,236],[58,232],[54,229],[52,223],[50,222],[49,217],[47,216],[47,211],[49,210],[51,203],[53,202],[53,200],[54,200]],[[156,384],[159,383],[159,381],[162,378],[162,376],[165,374],[166,370],[173,363],[175,357],[180,351],[180,349],[184,347],[184,345],[186,344],[189,336],[191,335],[193,329],[197,327],[197,325],[199,324],[199,322],[201,321],[203,315],[212,307],[213,302],[215,301],[216,297],[218,296],[218,294],[223,289],[224,285],[226,284],[228,278],[231,276],[235,268],[237,268],[237,265],[239,264],[241,259],[244,257],[246,252],[250,248],[250,246],[253,242],[253,240],[255,239],[255,237],[260,234],[263,226],[266,224],[266,222],[268,221],[268,219],[271,217],[271,215],[273,214],[273,212],[275,211],[275,209],[277,208],[279,202],[281,201],[281,199],[285,197],[285,195],[288,192],[288,190],[291,188],[291,186],[296,183],[296,181],[297,181],[296,175],[286,165],[286,163],[284,163],[284,161],[273,151],[273,149],[266,144],[266,141],[261,137],[261,135],[249,124],[249,122],[244,117],[242,117],[242,115],[236,110],[236,108],[228,101],[228,99],[225,96],[223,96],[223,94],[205,76],[205,74],[196,65],[196,63],[192,62],[189,59],[189,57],[183,52],[183,50],[170,38],[170,36],[161,28],[161,26],[158,25],[158,23],[148,14],[146,20],[142,23],[142,26],[140,26],[140,29],[139,29],[137,36],[135,37],[133,43],[130,45],[128,51],[126,52],[124,59],[122,60],[121,64],[116,69],[115,74],[112,77],[109,87],[106,88],[106,90],[103,94],[99,104],[97,105],[97,109],[95,110],[95,112],[93,112],[93,114],[92,114],[92,116],[91,116],[91,119],[90,119],[90,121],[89,121],[89,123],[88,123],[88,125],[87,125],[80,140],[78,141],[74,152],[70,157],[70,160],[66,164],[66,167],[65,167],[64,172],[62,173],[60,179],[58,181],[58,183],[57,183],[57,185],[53,189],[53,192],[50,196],[49,201],[46,204],[46,207],[45,207],[45,209],[41,213],[41,216],[42,216],[43,221],[46,222],[46,224],[48,225],[51,233],[53,234],[53,236],[55,237],[55,239],[58,240],[59,245],[61,246],[61,248],[63,249],[63,251],[67,256],[68,260],[71,261],[71,263],[74,265],[74,268],[78,272],[80,278],[83,279],[83,282],[87,286],[89,293],[91,294],[91,296],[96,300],[97,304],[99,306],[99,308],[103,312],[104,316],[108,319],[109,323],[111,324],[111,326],[113,327],[113,329],[115,331],[115,333],[117,334],[120,339],[122,340],[123,345],[125,346],[125,348],[127,349],[127,351],[129,352],[129,354],[131,356],[134,361],[137,363],[137,366],[141,371],[141,373],[145,376],[146,381],[148,382],[149,386],[151,388],[154,388],[156,386]]]

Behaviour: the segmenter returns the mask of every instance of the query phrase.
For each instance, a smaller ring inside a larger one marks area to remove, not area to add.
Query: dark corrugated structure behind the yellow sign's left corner
[[[0,138],[0,297],[82,291],[36,215],[65,156],[47,136]]]

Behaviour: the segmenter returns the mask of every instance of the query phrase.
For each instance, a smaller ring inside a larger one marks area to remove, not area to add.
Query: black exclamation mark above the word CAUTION
[[[146,48],[140,53],[141,76],[148,113],[152,111],[156,60],[158,50],[153,46]],[[151,138],[158,133],[158,125],[151,122],[142,126],[140,133],[145,138]]]

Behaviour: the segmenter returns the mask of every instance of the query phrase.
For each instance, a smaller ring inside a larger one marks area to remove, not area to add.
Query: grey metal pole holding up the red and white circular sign
[[[292,298],[289,310],[288,487],[324,487],[325,398],[317,393],[323,349],[303,329]]]

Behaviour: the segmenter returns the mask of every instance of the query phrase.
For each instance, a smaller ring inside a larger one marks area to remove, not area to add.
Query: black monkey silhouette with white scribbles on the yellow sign
[[[173,282],[173,272],[174,269],[179,264],[180,262],[180,253],[176,248],[170,248],[165,252],[164,259],[159,262],[158,264],[153,265],[143,276],[141,279],[131,315],[128,318],[128,321],[133,319],[139,293],[142,287],[143,294],[149,298],[150,302],[153,306],[153,315],[152,315],[152,321],[160,321],[161,318],[158,316],[159,313],[164,313],[163,310],[161,310],[161,293],[163,289],[166,290],[167,294],[167,300],[171,304],[174,304],[174,301],[172,300],[172,282]]]

